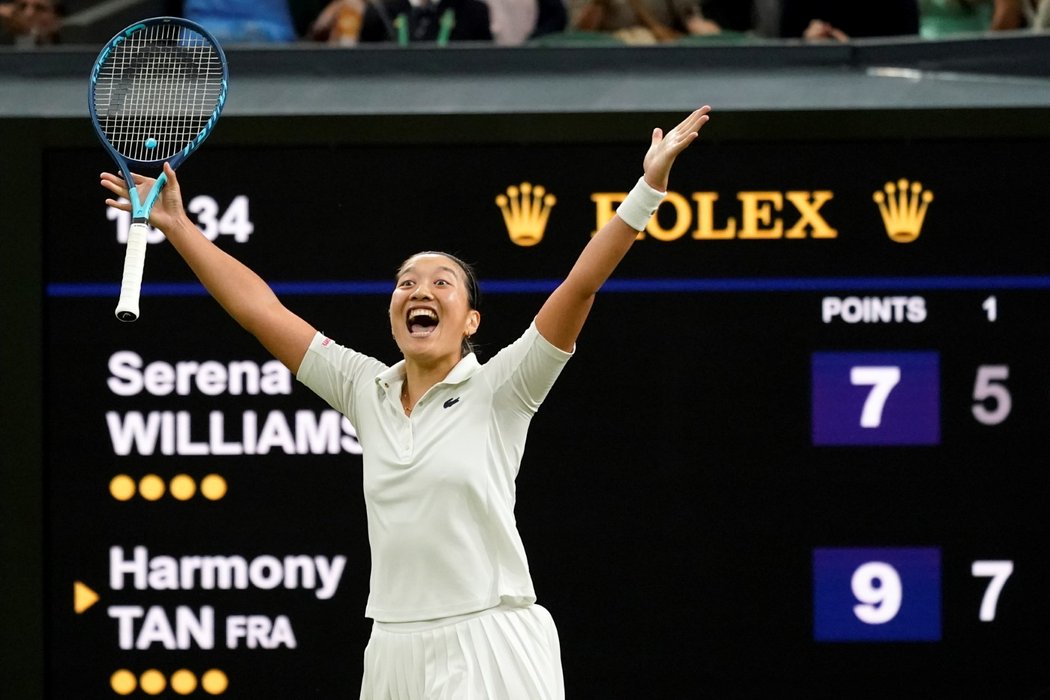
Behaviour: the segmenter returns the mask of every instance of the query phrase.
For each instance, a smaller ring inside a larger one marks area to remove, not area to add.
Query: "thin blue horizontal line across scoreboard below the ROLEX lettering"
[[[558,287],[555,279],[489,279],[481,282],[485,294],[546,294]],[[279,296],[387,295],[391,281],[298,281],[273,282]],[[741,277],[741,278],[633,278],[610,279],[603,293],[667,294],[699,292],[936,292],[942,290],[1047,290],[1050,275],[962,275],[925,277]],[[116,297],[116,283],[65,282],[47,285],[49,298]],[[207,296],[197,282],[148,282],[146,297]]]

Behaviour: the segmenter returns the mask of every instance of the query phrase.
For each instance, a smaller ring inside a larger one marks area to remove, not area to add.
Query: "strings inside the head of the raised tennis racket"
[[[222,106],[224,70],[205,37],[154,24],[118,44],[103,62],[94,107],[113,149],[134,161],[169,160],[205,131]]]

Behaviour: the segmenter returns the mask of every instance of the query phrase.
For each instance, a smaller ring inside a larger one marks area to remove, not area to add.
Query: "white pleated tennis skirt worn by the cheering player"
[[[558,629],[540,606],[372,625],[361,700],[564,698]]]

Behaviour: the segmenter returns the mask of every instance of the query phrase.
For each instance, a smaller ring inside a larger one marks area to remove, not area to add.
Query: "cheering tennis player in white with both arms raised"
[[[513,517],[529,422],[568,361],[594,296],[664,198],[671,166],[710,107],[654,129],[643,176],[584,248],[525,333],[480,364],[477,281],[461,260],[419,253],[397,273],[393,366],[344,347],[286,309],[183,209],[174,171],[150,221],[224,309],[357,429],[372,549],[362,699],[564,698],[558,631],[536,604]],[[127,197],[118,175],[102,186]],[[149,178],[135,177],[148,190]],[[128,205],[107,198],[110,207]]]

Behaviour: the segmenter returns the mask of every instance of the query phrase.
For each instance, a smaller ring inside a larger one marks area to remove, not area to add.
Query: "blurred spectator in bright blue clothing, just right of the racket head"
[[[287,0],[184,0],[182,16],[219,43],[292,42],[298,36]]]

